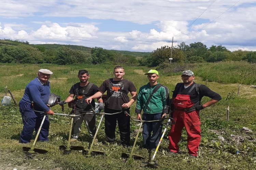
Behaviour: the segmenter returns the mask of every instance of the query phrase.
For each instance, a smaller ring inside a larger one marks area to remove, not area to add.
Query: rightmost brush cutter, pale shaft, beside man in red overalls
[[[159,149],[159,146],[160,146],[160,144],[161,144],[161,142],[162,142],[163,136],[165,135],[165,132],[166,132],[168,126],[169,126],[170,124],[175,124],[173,118],[162,118],[162,119],[168,119],[168,121],[167,121],[166,123],[163,123],[163,122],[162,122],[162,124],[165,124],[165,130],[163,130],[162,136],[161,136],[161,138],[160,138],[160,140],[159,140],[159,142],[158,142],[158,145],[157,145],[157,147],[156,147],[156,150],[155,150],[155,152],[154,152],[154,155],[152,156],[151,160],[148,161],[148,163],[147,163],[147,166],[149,166],[149,167],[151,167],[151,168],[157,168],[157,167],[158,167],[158,164],[154,162],[156,153],[157,153],[157,151],[158,151],[158,149]]]

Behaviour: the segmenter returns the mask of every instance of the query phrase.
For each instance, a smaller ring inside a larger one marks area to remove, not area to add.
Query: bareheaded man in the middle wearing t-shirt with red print
[[[115,115],[105,115],[105,134],[106,140],[110,143],[115,141],[116,120],[120,131],[120,141],[123,147],[128,147],[130,143],[130,117],[124,114],[129,113],[130,105],[136,100],[136,87],[132,82],[123,78],[125,74],[124,67],[116,66],[114,68],[114,78],[105,80],[98,88],[98,92],[87,98],[86,102],[90,103],[93,99],[100,97],[107,91],[105,101],[105,113],[117,113]],[[131,94],[129,100],[128,92]]]

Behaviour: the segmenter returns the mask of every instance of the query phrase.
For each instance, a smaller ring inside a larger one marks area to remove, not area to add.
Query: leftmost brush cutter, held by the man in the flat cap
[[[46,114],[44,114],[43,120],[42,120],[42,122],[41,122],[41,124],[40,124],[39,130],[38,130],[38,132],[37,132],[37,135],[35,136],[35,140],[34,140],[32,146],[31,146],[31,147],[23,147],[23,148],[22,148],[23,151],[26,153],[26,155],[27,155],[28,157],[30,157],[30,158],[32,158],[33,156],[35,156],[36,153],[45,154],[45,153],[48,152],[48,151],[45,150],[45,149],[35,148],[35,144],[37,143],[37,139],[38,139],[38,136],[39,136],[40,131],[41,131],[41,129],[42,129],[42,126],[43,126],[43,123],[44,123],[45,118],[46,118]]]

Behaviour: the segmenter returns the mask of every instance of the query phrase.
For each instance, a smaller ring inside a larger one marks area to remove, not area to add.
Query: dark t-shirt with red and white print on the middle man
[[[107,91],[105,107],[113,110],[122,110],[122,105],[128,103],[128,93],[136,91],[134,84],[126,79],[113,81],[113,78],[105,80],[98,88],[99,91]]]

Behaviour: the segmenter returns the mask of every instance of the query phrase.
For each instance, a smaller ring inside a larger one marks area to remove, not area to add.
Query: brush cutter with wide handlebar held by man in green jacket
[[[127,115],[129,115],[128,113],[126,113]],[[130,115],[129,115],[130,116]],[[138,140],[138,137],[139,137],[139,134],[140,134],[140,130],[141,130],[141,127],[142,127],[142,124],[143,122],[158,122],[158,121],[162,121],[162,119],[160,120],[151,120],[151,121],[146,121],[146,120],[136,120],[136,119],[133,119],[132,117],[130,117],[132,120],[134,121],[139,121],[140,122],[140,127],[139,127],[139,130],[137,132],[137,135],[136,135],[136,138],[135,138],[135,141],[133,143],[133,147],[132,147],[132,150],[131,150],[131,153],[122,153],[122,157],[123,158],[133,158],[133,159],[145,159],[144,156],[141,156],[141,155],[135,155],[133,154],[133,151],[134,151],[134,148],[136,146],[136,142]]]

